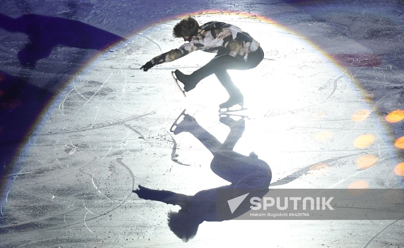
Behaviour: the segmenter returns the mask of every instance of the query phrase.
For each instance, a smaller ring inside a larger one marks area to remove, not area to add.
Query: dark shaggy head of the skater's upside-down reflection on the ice
[[[183,242],[187,242],[195,237],[199,223],[181,213],[170,211],[168,212],[168,227]]]

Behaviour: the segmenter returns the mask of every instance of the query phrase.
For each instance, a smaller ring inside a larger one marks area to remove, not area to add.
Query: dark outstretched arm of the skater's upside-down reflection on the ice
[[[139,190],[133,190],[133,192],[135,192],[139,198],[179,205],[181,208],[189,206],[189,197],[191,196],[178,194],[168,190],[152,190],[141,185],[138,185],[138,187]]]

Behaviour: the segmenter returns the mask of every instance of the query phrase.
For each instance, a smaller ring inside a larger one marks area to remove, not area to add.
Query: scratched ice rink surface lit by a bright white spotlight
[[[403,108],[401,2],[0,6],[9,17],[61,17],[126,38],[99,54],[57,44],[35,67],[23,67],[17,53],[29,35],[0,29],[0,70],[23,79],[26,87],[19,106],[25,112],[7,112],[9,105],[2,103],[2,123],[8,124],[0,134],[23,133],[38,121],[27,141],[18,136],[22,146],[13,164],[9,150],[16,142],[4,142],[1,246],[219,247],[257,240],[279,247],[402,246],[402,221],[204,222],[195,238],[183,243],[167,225],[168,211],[178,206],[132,193],[141,184],[191,196],[228,184],[212,172],[213,155],[193,135],[169,131],[186,108],[219,142],[227,137],[229,128],[217,113],[227,95],[216,77],[183,98],[170,75],[175,69],[191,73],[213,54],[198,51],[138,70],[183,43],[171,30],[187,13],[201,24],[217,20],[241,27],[263,47],[265,58],[257,68],[230,71],[248,107],[238,113],[248,117],[234,151],[247,156],[254,151],[267,162],[271,187],[347,188],[365,181],[361,187],[401,188],[402,177],[393,169],[403,162],[394,146],[403,136],[402,121],[385,121],[387,113]]]

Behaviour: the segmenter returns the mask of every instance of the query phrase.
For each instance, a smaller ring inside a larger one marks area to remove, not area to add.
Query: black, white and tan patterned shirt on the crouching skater
[[[200,26],[197,33],[189,38],[178,49],[160,54],[150,62],[154,65],[167,63],[181,58],[196,50],[217,54],[229,54],[240,60],[247,61],[248,54],[255,52],[259,43],[239,27],[223,22],[210,21]]]

